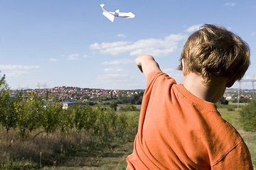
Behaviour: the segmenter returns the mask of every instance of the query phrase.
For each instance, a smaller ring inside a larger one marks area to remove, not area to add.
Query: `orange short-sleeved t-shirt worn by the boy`
[[[253,169],[238,132],[214,103],[163,72],[149,74],[127,169]]]

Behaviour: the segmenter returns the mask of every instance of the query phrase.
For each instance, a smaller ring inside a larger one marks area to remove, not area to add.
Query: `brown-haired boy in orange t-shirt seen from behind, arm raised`
[[[253,169],[242,137],[215,106],[249,67],[246,42],[205,25],[183,47],[183,84],[161,72],[150,55],[136,64],[147,83],[127,169]]]

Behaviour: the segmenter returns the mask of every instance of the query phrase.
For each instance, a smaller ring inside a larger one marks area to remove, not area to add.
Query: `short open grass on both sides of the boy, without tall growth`
[[[231,103],[231,105],[237,106],[236,103]],[[245,104],[243,103],[242,106]],[[235,108],[234,107],[234,108]],[[228,111],[228,108],[219,108],[222,117],[227,120],[231,125],[233,125],[240,135],[245,140],[247,147],[252,155],[252,162],[256,166],[256,132],[245,132],[242,130],[242,125],[239,121],[240,115],[237,109],[235,111]],[[131,114],[131,113],[130,113]],[[114,149],[107,149],[104,153],[97,154],[96,157],[89,157],[87,160],[93,162],[93,164],[87,164],[82,167],[52,167],[46,169],[125,169],[127,166],[126,157],[132,152],[133,142],[127,142],[120,145]]]

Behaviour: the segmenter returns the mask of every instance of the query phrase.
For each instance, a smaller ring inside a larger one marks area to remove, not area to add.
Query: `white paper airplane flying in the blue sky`
[[[105,4],[100,4],[100,6],[102,7],[102,10],[103,10],[102,14],[112,22],[114,21],[115,16],[121,17],[121,18],[134,18],[135,17],[135,15],[132,12],[122,13],[122,12],[119,12],[119,9],[117,9],[114,12],[109,12],[109,11],[107,11],[107,9],[104,8]]]

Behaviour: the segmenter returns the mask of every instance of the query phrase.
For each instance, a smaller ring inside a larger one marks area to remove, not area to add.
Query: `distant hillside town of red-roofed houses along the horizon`
[[[18,90],[11,90],[11,94],[15,95]],[[23,93],[36,92],[39,96],[45,94],[53,94],[62,101],[88,101],[88,100],[106,100],[112,98],[122,98],[122,96],[133,96],[144,93],[144,90],[106,90],[106,89],[89,89],[73,86],[57,86],[50,89],[23,89]],[[240,97],[251,99],[255,96],[253,89],[240,89]],[[224,98],[232,101],[238,98],[238,89],[226,89]]]

